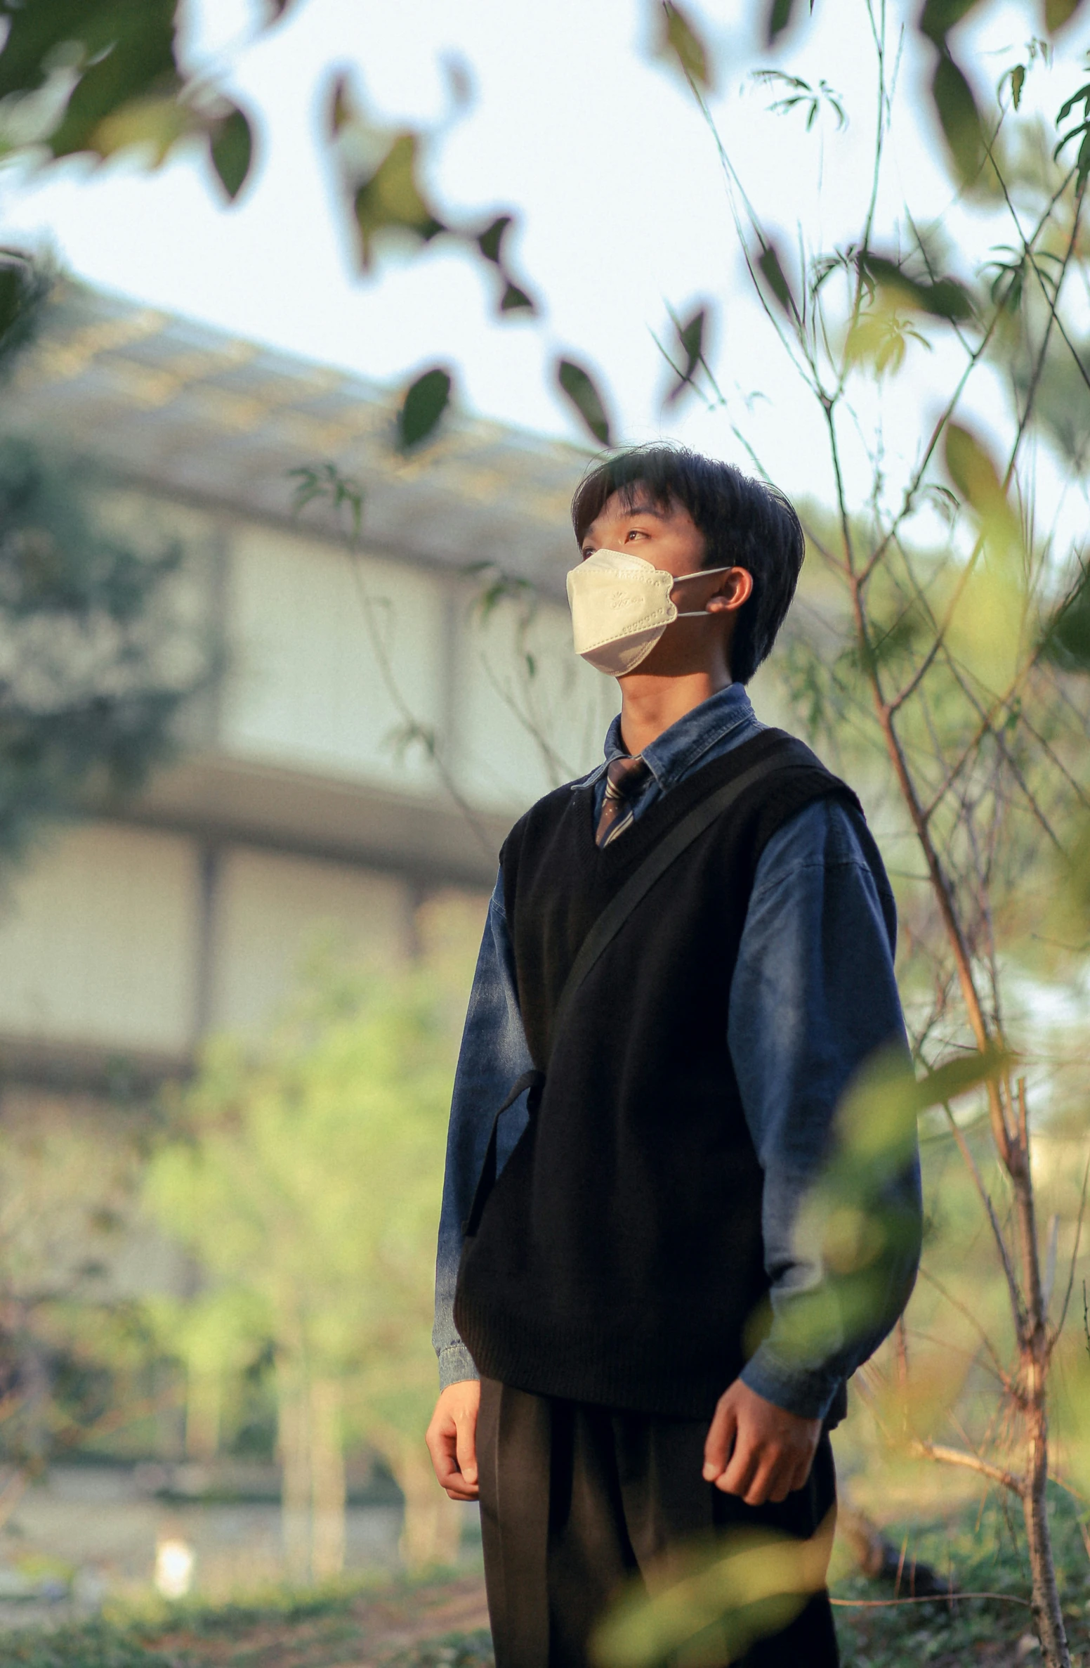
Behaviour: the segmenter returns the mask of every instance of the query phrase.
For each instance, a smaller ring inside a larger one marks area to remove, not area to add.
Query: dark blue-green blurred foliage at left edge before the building
[[[218,672],[180,604],[183,549],[103,530],[95,475],[0,444],[0,851],[140,787]]]

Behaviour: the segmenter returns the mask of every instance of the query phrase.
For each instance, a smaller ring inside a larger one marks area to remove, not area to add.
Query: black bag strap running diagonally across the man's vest
[[[578,947],[572,967],[568,969],[568,976],[563,981],[563,989],[560,991],[560,999],[557,1002],[557,1011],[553,1014],[553,1027],[552,1027],[553,1048],[557,1044],[557,1032],[560,1031],[563,1016],[567,1014],[580,984],[583,982],[593,964],[600,959],[603,951],[608,949],[608,946],[613,942],[613,939],[617,937],[617,934],[620,932],[620,929],[623,927],[625,921],[637,907],[637,904],[640,904],[647,897],[655,881],[660,881],[662,876],[667,872],[667,869],[672,864],[675,864],[677,859],[685,851],[688,851],[693,841],[698,839],[705,829],[712,827],[715,819],[722,817],[723,812],[728,811],[748,787],[752,787],[755,782],[760,782],[762,777],[772,776],[773,771],[778,771],[782,767],[783,767],[783,752],[777,749],[777,752],[767,756],[758,764],[752,764],[748,771],[742,772],[742,776],[735,776],[730,782],[725,782],[722,787],[717,787],[715,792],[707,796],[707,799],[702,799],[700,804],[693,806],[693,809],[688,811],[680,819],[680,822],[675,822],[673,827],[658,841],[653,851],[647,854],[640,867],[628,876],[625,884],[620,887],[618,892],[615,892],[615,896],[608,901],[608,904],[592,926],[590,932]],[[485,1163],[482,1166],[480,1178],[477,1181],[477,1191],[473,1193],[470,1214],[465,1219],[463,1233],[467,1238],[472,1238],[477,1233],[480,1219],[485,1211],[485,1204],[488,1203],[488,1194],[495,1188],[500,1118],[503,1116],[505,1111],[508,1111],[508,1108],[515,1104],[518,1096],[523,1094],[527,1089],[530,1091],[527,1098],[527,1111],[530,1113],[530,1118],[533,1118],[542,1103],[543,1088],[545,1088],[543,1071],[538,1071],[537,1068],[533,1071],[523,1071],[522,1078],[518,1078],[517,1083],[512,1084],[510,1094],[507,1096],[503,1106],[492,1119],[492,1133],[488,1136],[488,1146],[485,1149]]]

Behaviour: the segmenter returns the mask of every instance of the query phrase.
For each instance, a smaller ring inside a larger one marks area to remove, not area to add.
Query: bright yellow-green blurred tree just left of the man
[[[460,1521],[420,1431],[435,1396],[435,1221],[478,927],[477,911],[450,899],[425,911],[415,966],[315,964],[257,1056],[230,1039],[208,1048],[147,1179],[148,1211],[205,1271],[188,1304],[160,1309],[163,1336],[177,1326],[172,1351],[207,1384],[267,1339],[292,1510],[310,1491],[315,1520],[343,1515],[343,1478],[340,1501],[327,1500],[322,1466],[333,1475],[348,1441],[370,1443],[407,1498],[410,1565],[445,1561]]]

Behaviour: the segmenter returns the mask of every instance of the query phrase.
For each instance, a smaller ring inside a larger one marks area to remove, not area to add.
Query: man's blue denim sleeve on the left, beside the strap
[[[503,912],[503,876],[500,874],[488,904],[450,1103],[447,1174],[438,1219],[438,1256],[435,1259],[435,1326],[432,1329],[432,1343],[438,1356],[440,1389],[467,1378],[477,1378],[473,1359],[453,1323],[455,1283],[462,1259],[462,1224],[470,1214],[497,1108],[507,1099],[515,1078],[520,1078],[532,1064],[518,1011],[515,957]],[[507,1163],[525,1124],[523,1098],[503,1113],[500,1121],[497,1168],[502,1169]]]

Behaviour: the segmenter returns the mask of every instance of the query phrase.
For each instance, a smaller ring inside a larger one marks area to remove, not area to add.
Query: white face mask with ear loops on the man
[[[705,609],[678,614],[670,600],[673,587],[683,579],[725,572],[725,567],[702,567],[678,579],[642,555],[592,550],[568,574],[575,652],[608,677],[623,677],[647,659],[673,620],[707,615]]]

